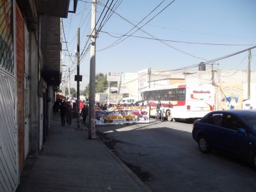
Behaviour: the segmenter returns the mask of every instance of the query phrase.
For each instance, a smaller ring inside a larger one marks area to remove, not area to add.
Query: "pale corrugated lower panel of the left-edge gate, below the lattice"
[[[0,74],[0,191],[13,191],[17,186],[15,81],[3,71]]]

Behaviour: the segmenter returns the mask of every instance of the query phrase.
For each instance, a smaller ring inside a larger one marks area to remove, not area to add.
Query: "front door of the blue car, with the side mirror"
[[[223,147],[239,156],[248,157],[252,150],[252,132],[235,115],[223,116],[223,127],[225,127]],[[237,132],[237,129],[246,129],[246,134]]]

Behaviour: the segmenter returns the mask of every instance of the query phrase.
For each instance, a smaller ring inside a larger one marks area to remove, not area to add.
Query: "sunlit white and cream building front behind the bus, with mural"
[[[256,98],[256,71],[250,75],[248,93],[248,72],[246,70],[221,70],[211,68],[172,72],[146,68],[134,73],[123,73],[120,93],[123,97],[140,100],[140,93],[172,84],[209,84],[215,88],[214,109],[242,109],[243,100]],[[202,70],[204,69],[204,70]],[[249,94],[249,95],[248,95]]]

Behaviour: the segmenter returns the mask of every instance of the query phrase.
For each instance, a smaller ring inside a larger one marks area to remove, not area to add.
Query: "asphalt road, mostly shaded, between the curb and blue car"
[[[97,127],[104,143],[152,191],[256,191],[250,164],[224,152],[202,154],[191,136],[192,124]]]

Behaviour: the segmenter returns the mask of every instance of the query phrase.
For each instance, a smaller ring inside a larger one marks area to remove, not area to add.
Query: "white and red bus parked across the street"
[[[141,99],[150,105],[150,116],[156,115],[156,105],[160,101],[170,121],[175,118],[202,118],[214,109],[214,86],[175,84],[142,92]]]

